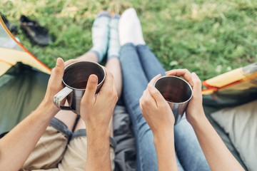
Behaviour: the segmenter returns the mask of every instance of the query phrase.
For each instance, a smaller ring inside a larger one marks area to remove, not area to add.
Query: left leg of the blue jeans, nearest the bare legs
[[[136,135],[136,170],[158,170],[153,133],[143,118],[139,106],[139,99],[147,87],[148,79],[138,58],[136,47],[132,43],[126,43],[121,47],[121,68],[124,79],[124,102]],[[179,161],[178,167],[183,170]]]

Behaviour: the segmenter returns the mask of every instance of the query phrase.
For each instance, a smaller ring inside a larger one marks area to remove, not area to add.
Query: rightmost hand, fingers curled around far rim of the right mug
[[[204,116],[203,97],[201,93],[201,80],[196,73],[190,73],[187,69],[176,69],[166,72],[167,76],[183,76],[193,88],[193,95],[186,108],[186,119],[191,125]]]

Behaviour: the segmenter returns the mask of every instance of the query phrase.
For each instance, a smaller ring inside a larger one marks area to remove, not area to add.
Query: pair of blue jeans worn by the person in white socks
[[[136,170],[158,170],[153,133],[141,114],[139,99],[151,78],[165,69],[147,46],[126,43],[121,47],[123,98],[136,136]],[[184,117],[174,128],[179,170],[210,170],[191,125]]]

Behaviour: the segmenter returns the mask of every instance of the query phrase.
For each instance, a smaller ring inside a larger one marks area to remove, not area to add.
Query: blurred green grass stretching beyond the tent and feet
[[[167,70],[188,68],[206,80],[257,61],[256,0],[1,0],[0,12],[19,25],[22,14],[48,28],[54,42],[33,46],[14,36],[53,68],[91,48],[91,26],[101,10],[138,13],[146,43]]]

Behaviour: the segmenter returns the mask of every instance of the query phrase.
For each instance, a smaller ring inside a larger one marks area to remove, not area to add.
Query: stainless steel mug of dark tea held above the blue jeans
[[[171,106],[176,125],[180,122],[188,102],[192,98],[192,87],[187,81],[177,76],[162,76],[158,78],[154,86]]]

